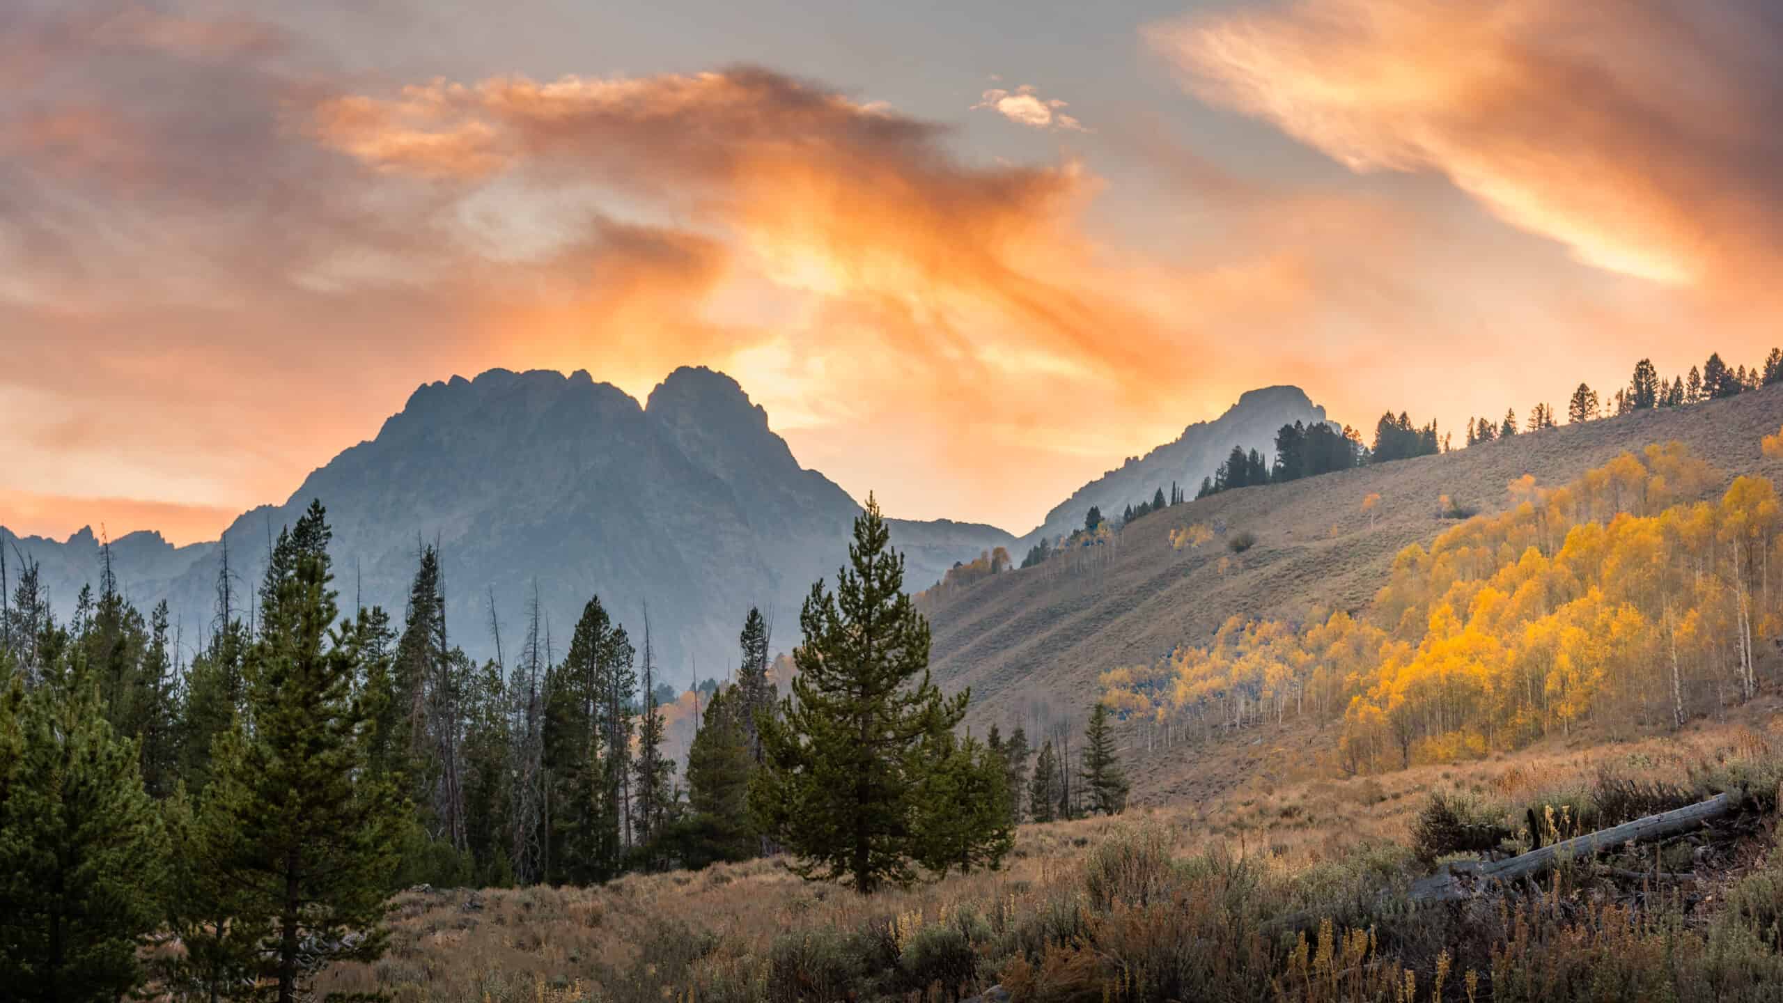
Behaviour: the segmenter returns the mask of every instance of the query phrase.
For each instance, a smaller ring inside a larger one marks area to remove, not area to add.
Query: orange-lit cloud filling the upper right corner
[[[1439,171],[1583,262],[1671,286],[1774,264],[1760,2],[1296,0],[1148,29],[1202,98],[1357,171]]]

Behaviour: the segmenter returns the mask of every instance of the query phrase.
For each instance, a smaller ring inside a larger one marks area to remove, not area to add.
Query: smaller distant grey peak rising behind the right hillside
[[[1212,477],[1232,446],[1243,446],[1246,452],[1259,450],[1264,457],[1273,459],[1275,434],[1282,425],[1294,421],[1307,425],[1325,421],[1325,409],[1312,403],[1300,387],[1246,391],[1220,418],[1196,421],[1184,428],[1175,441],[1164,443],[1143,457],[1127,457],[1120,468],[1073,491],[1070,498],[1047,512],[1047,519],[1034,532],[1022,537],[1022,546],[1039,543],[1041,537],[1057,541],[1080,528],[1091,505],[1100,507],[1104,516],[1114,518],[1127,505],[1150,502],[1159,487],[1168,496],[1171,484],[1193,498],[1202,478]]]

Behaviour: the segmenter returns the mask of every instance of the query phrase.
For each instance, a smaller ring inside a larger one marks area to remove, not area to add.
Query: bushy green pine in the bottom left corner
[[[27,694],[0,667],[0,996],[121,999],[143,985],[168,839],[137,762],[93,684]]]

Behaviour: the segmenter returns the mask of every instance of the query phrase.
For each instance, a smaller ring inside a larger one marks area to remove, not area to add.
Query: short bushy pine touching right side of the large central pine
[[[918,814],[916,858],[940,876],[977,867],[995,871],[1015,846],[1002,750],[941,732],[929,741],[925,758],[929,769],[916,785],[916,800],[925,805]]]

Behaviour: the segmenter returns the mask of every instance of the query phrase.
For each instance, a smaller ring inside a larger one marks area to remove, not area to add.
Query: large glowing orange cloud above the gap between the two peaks
[[[1114,261],[1082,232],[1102,182],[1079,162],[965,164],[934,125],[747,68],[435,80],[325,102],[312,128],[373,171],[465,200],[592,187],[612,196],[594,218],[624,205],[676,220],[599,223],[579,286],[503,314],[512,339],[565,368],[594,344],[654,362],[653,377],[729,366],[776,414],[858,428],[895,410],[931,464],[1013,457],[1007,475],[1057,452],[1034,437],[1063,432],[1066,394],[1123,427],[1175,425],[1148,410],[1187,375],[1187,284],[1163,268],[1136,284],[1130,253]],[[583,261],[555,253],[555,275]],[[713,321],[726,307],[768,319]]]

